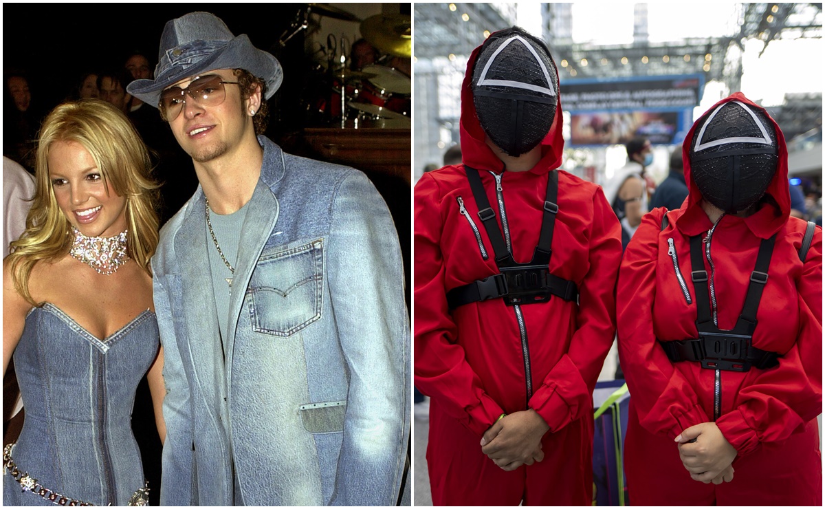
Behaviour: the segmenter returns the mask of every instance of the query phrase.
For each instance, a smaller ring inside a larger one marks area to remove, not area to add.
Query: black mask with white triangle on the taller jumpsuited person
[[[517,29],[491,36],[474,64],[473,94],[493,143],[511,156],[530,152],[549,132],[559,102],[549,50]]]

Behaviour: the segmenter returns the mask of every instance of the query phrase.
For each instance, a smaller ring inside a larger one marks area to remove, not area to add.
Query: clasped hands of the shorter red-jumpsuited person
[[[725,439],[715,422],[691,426],[676,436],[674,441],[678,443],[681,464],[695,481],[721,484],[733,480],[731,463],[736,458],[736,449]]]

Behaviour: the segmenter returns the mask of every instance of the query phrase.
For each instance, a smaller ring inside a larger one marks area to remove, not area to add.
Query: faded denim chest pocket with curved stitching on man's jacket
[[[249,283],[252,328],[288,337],[321,318],[323,241],[264,254]]]

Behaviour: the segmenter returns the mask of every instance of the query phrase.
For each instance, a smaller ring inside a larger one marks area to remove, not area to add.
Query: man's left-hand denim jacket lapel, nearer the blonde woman
[[[186,309],[186,342],[192,360],[192,372],[200,384],[200,394],[219,401],[225,391],[224,360],[220,345],[218,318],[215,316],[214,292],[209,257],[205,250],[206,218],[202,192],[194,199],[174,246],[180,263],[181,299],[178,309]],[[182,347],[182,346],[181,346]],[[219,394],[216,394],[219,393]]]

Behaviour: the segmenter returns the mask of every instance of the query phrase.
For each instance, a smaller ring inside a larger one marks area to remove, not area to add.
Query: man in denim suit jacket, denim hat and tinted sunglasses
[[[212,14],[167,22],[157,105],[200,186],[153,257],[162,505],[394,505],[409,434],[398,236],[361,173],[262,135],[281,64]]]

